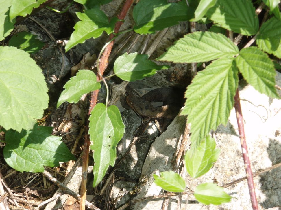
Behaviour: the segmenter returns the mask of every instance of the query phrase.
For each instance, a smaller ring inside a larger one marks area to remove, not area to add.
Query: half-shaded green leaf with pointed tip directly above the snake
[[[114,62],[114,72],[117,77],[126,81],[141,80],[145,77],[151,77],[158,70],[169,69],[168,65],[157,65],[148,59],[148,55],[134,53],[124,53]]]

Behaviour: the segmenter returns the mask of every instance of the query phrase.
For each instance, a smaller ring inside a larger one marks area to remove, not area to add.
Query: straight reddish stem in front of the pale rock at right
[[[245,164],[246,177],[247,177],[248,186],[249,186],[252,208],[254,210],[258,210],[258,202],[257,202],[257,198],[256,198],[253,173],[252,173],[252,169],[251,169],[251,163],[250,163],[249,153],[248,153],[248,148],[247,148],[247,143],[246,143],[243,116],[242,116],[241,105],[240,105],[240,100],[239,100],[238,88],[236,91],[236,95],[234,96],[234,108],[235,108],[235,112],[236,112],[236,119],[237,119],[238,130],[239,130],[239,138],[241,141],[242,156],[243,156],[243,160],[244,160],[244,164]]]

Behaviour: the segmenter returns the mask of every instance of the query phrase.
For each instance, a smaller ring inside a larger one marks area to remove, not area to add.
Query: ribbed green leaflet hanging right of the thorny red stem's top
[[[236,57],[237,67],[247,82],[258,92],[280,98],[275,89],[275,69],[266,53],[257,47],[243,48]]]

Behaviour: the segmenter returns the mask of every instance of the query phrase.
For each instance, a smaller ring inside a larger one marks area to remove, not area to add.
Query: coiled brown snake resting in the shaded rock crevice
[[[173,119],[180,111],[183,91],[175,88],[157,88],[142,97],[126,96],[126,103],[140,116]],[[151,102],[163,102],[163,106],[154,107]]]

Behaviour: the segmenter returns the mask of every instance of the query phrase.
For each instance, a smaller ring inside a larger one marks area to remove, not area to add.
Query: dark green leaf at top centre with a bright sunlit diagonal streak
[[[134,30],[139,34],[155,33],[155,31],[177,25],[193,17],[197,1],[189,0],[179,3],[167,3],[167,0],[140,0],[134,7],[133,17],[136,22]]]

